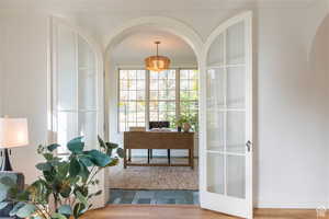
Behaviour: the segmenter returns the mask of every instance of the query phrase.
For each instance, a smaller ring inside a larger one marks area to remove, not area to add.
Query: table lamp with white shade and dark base
[[[9,150],[29,145],[26,118],[0,118],[0,149],[4,149],[4,158],[0,171],[12,171]]]

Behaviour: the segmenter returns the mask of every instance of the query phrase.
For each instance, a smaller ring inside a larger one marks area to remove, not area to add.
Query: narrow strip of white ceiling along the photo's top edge
[[[239,8],[250,5],[308,5],[318,0],[1,0],[0,9],[50,11],[157,11]]]

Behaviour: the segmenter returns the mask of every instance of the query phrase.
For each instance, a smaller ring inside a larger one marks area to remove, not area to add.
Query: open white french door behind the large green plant
[[[50,20],[49,124],[50,141],[61,147],[58,154],[68,155],[66,145],[83,136],[86,150],[99,149],[97,136],[103,135],[103,73],[100,49],[80,30],[60,19]],[[104,174],[94,191],[104,189]],[[103,207],[106,191],[93,201]]]

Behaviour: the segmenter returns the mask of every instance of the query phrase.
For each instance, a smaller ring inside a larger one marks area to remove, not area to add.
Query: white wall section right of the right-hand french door
[[[258,14],[257,183],[261,207],[327,205],[327,99],[321,85],[326,81],[308,70],[303,14],[303,10]]]

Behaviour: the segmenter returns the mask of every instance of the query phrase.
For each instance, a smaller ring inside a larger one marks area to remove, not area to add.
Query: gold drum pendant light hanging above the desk
[[[170,59],[166,56],[158,55],[160,43],[161,42],[155,42],[157,45],[157,56],[150,56],[145,59],[145,66],[147,70],[159,72],[169,69]]]

